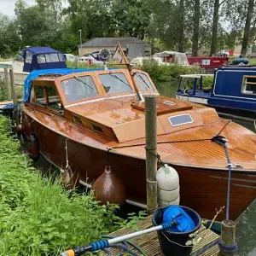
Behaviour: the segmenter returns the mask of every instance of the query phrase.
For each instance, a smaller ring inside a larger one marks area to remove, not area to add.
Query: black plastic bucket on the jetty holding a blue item
[[[152,217],[154,226],[162,224],[163,213],[167,208],[168,207],[161,207],[154,212]],[[199,230],[201,227],[200,215],[189,207],[182,208],[195,222],[195,229],[190,230],[189,232],[170,232],[167,230],[157,231],[160,248],[165,256],[188,256],[192,251],[192,246],[186,246],[186,242],[189,240],[189,235],[194,233],[196,230]]]

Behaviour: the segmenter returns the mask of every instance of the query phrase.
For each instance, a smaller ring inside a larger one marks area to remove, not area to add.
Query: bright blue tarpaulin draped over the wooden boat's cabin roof
[[[81,73],[81,72],[90,72],[90,71],[96,71],[96,70],[102,70],[102,68],[55,68],[55,69],[45,69],[45,70],[34,70],[32,73],[30,73],[24,82],[24,100],[23,102],[28,102],[29,96],[30,96],[30,90],[32,87],[32,80],[37,79],[40,75],[45,74],[61,74],[61,75],[67,75],[70,73]]]

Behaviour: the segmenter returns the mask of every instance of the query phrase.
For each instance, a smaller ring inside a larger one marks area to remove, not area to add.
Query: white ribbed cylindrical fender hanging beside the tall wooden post
[[[179,177],[171,166],[164,165],[156,173],[160,207],[179,204]]]

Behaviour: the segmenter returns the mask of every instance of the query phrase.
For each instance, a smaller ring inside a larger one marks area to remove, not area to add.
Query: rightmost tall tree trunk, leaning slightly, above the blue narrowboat
[[[248,0],[247,4],[247,19],[244,27],[243,38],[241,43],[241,55],[245,56],[247,54],[247,46],[250,37],[250,26],[253,16],[253,6],[254,0]]]

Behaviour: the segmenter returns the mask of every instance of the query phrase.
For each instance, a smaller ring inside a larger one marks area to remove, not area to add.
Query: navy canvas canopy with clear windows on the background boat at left
[[[22,51],[24,57],[23,72],[67,67],[65,55],[56,49],[50,47],[28,47],[22,49]]]

